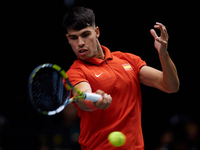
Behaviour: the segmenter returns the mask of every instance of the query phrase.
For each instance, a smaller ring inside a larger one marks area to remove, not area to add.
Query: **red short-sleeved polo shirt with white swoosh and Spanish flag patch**
[[[141,90],[139,70],[146,63],[140,57],[122,52],[110,52],[102,46],[105,60],[76,60],[67,71],[73,85],[88,82],[93,92],[100,89],[112,96],[105,110],[84,111],[76,104],[81,118],[79,143],[82,150],[143,150],[141,128]],[[126,143],[114,147],[108,135],[120,131]]]

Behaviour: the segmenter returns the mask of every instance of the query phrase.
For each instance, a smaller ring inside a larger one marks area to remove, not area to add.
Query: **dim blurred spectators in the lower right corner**
[[[184,115],[174,115],[155,150],[200,150],[199,122]]]

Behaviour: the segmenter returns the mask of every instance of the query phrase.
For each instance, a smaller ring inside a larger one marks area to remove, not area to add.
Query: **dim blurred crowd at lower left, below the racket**
[[[0,150],[80,150],[80,119],[73,104],[55,116],[35,110],[28,117],[16,114],[0,113]]]

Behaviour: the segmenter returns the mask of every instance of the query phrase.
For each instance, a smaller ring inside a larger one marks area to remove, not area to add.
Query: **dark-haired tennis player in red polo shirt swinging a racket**
[[[91,9],[75,7],[65,15],[63,23],[69,44],[78,57],[67,71],[71,83],[83,92],[102,95],[97,102],[80,99],[74,103],[81,118],[82,150],[143,150],[140,83],[166,93],[179,89],[177,70],[167,51],[165,26],[158,22],[154,26],[161,31],[160,36],[150,30],[162,66],[159,71],[134,54],[111,52],[101,45],[100,30]],[[108,142],[107,137],[113,131],[125,134],[126,143],[122,147]]]

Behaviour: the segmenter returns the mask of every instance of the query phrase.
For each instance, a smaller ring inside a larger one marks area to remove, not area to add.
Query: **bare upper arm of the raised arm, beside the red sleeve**
[[[143,66],[139,71],[140,83],[165,91],[163,72],[149,66]]]

